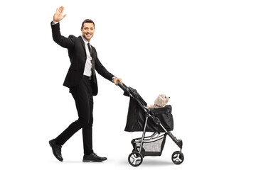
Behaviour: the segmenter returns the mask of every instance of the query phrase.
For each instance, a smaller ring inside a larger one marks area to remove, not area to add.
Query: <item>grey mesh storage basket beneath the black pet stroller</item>
[[[166,134],[154,137],[144,137],[142,145],[142,137],[132,140],[132,146],[134,147],[135,152],[139,152],[140,146],[142,145],[143,156],[161,156],[161,153],[164,149],[164,144],[166,140]]]

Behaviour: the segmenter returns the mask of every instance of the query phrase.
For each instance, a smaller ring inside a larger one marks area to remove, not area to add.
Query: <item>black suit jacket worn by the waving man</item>
[[[85,42],[82,40],[81,36],[78,38],[74,35],[69,35],[68,38],[62,36],[60,34],[60,23],[50,25],[53,33],[53,40],[61,47],[68,48],[68,56],[71,64],[65,77],[63,86],[67,86],[69,88],[72,86],[78,86],[82,79],[85,69],[85,62],[87,59]],[[114,77],[114,75],[108,72],[107,69],[105,69],[105,67],[101,64],[97,57],[95,47],[92,47],[92,64],[95,66],[96,71],[102,75],[102,77],[112,81],[112,77]],[[96,96],[98,92],[96,74],[92,74],[92,79],[92,95]]]

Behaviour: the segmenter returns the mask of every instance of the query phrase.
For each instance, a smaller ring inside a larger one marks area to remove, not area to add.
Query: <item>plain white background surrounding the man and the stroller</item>
[[[8,1],[1,2],[0,167],[3,169],[133,169],[124,132],[129,98],[97,75],[93,141],[100,164],[82,163],[82,132],[63,146],[64,162],[48,141],[78,116],[62,86],[68,51],[53,42],[50,21],[59,6],[68,15],[63,35],[80,35],[95,21],[92,45],[102,64],[150,104],[171,96],[174,135],[161,157],[139,169],[255,169],[255,1]]]

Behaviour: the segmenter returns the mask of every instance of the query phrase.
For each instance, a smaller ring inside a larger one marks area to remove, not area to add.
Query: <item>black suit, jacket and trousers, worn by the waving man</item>
[[[55,142],[57,145],[63,145],[72,135],[82,128],[82,137],[84,144],[84,153],[91,154],[92,150],[92,123],[93,123],[93,98],[97,95],[97,78],[95,71],[92,70],[92,77],[83,76],[85,69],[85,62],[87,59],[85,51],[85,42],[82,37],[78,38],[70,35],[68,38],[60,34],[60,23],[52,25],[53,40],[61,47],[68,48],[68,56],[70,57],[70,68],[65,77],[64,86],[70,88],[70,93],[75,99],[75,106],[78,110],[78,120],[71,123],[70,126],[64,130]],[[113,74],[107,71],[101,64],[97,57],[95,47],[92,47],[92,65],[96,71],[105,77],[105,79],[112,80]]]

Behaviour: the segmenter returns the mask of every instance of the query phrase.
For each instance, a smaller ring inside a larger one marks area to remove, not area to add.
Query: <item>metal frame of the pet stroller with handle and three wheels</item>
[[[160,136],[160,132],[154,132],[153,135],[151,135],[150,137],[145,137],[146,125],[148,123],[149,118],[151,118],[156,125],[160,125],[162,130],[164,130],[164,135],[161,135],[161,137],[164,138],[164,142],[165,142],[165,137],[168,135],[169,137],[171,137],[171,140],[173,140],[174,143],[180,148],[180,151],[176,151],[172,154],[171,159],[172,159],[172,162],[174,162],[174,164],[181,164],[184,160],[183,153],[181,152],[182,146],[183,146],[182,140],[177,140],[177,138],[174,137],[171,131],[167,131],[166,128],[164,128],[164,125],[162,125],[159,118],[157,118],[156,115],[154,115],[154,112],[151,111],[151,109],[146,108],[146,102],[143,100],[141,96],[139,96],[137,91],[134,91],[134,89],[132,89],[131,87],[128,88],[125,84],[119,83],[119,81],[117,81],[117,85],[124,91],[124,96],[129,96],[133,98],[135,101],[137,101],[137,103],[142,108],[144,113],[146,113],[146,120],[144,123],[142,137],[132,140],[132,145],[134,145],[134,149],[132,153],[129,154],[129,157],[128,157],[129,164],[131,164],[132,166],[139,166],[140,164],[142,164],[143,157],[145,156],[161,156],[162,149],[164,149],[164,143],[161,144],[161,152],[159,152],[157,155],[146,154],[146,152],[143,151],[144,142],[156,139],[155,137],[156,134],[158,134],[157,137]],[[139,149],[137,149],[136,147],[137,146],[136,144],[138,143],[139,143]]]

